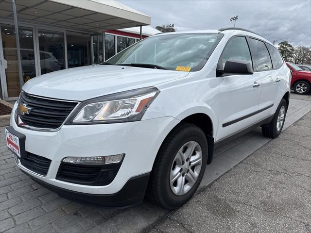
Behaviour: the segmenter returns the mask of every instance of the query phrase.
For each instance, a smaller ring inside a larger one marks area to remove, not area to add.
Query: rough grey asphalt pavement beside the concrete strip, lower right
[[[149,233],[311,232],[311,113]]]

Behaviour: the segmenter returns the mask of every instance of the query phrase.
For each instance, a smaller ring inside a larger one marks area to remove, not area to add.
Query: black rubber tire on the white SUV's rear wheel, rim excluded
[[[279,130],[277,130],[277,127],[276,127],[276,125],[277,125],[277,118],[278,118],[278,114],[279,114],[280,109],[282,108],[282,106],[284,106],[284,108],[285,108],[284,120],[283,120],[281,128]],[[271,122],[269,124],[261,126],[262,135],[265,136],[265,137],[276,138],[282,132],[282,129],[283,129],[283,126],[284,126],[284,122],[285,122],[286,112],[287,112],[286,100],[282,99],[281,102],[279,103],[277,109],[276,109],[276,113],[273,116],[273,119],[271,120]]]

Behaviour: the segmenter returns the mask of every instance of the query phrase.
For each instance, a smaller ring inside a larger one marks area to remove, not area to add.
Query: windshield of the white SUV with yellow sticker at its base
[[[152,36],[122,50],[106,64],[197,71],[205,65],[222,37],[219,33]]]

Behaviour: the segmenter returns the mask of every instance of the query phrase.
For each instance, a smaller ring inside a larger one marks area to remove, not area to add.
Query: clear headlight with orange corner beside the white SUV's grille
[[[155,87],[146,87],[83,101],[65,125],[140,120],[158,93]]]

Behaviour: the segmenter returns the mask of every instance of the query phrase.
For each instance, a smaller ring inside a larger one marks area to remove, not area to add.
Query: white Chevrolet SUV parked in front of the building
[[[106,63],[27,82],[6,129],[17,166],[70,199],[125,207],[187,202],[214,147],[282,130],[291,72],[239,28],[148,37]]]

